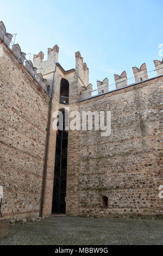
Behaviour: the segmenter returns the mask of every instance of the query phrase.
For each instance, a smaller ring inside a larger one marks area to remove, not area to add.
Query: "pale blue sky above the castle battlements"
[[[47,48],[60,47],[59,63],[75,67],[80,51],[90,68],[90,83],[140,68],[154,70],[162,36],[162,0],[0,0],[0,20],[7,32],[17,33],[23,52],[47,57]]]

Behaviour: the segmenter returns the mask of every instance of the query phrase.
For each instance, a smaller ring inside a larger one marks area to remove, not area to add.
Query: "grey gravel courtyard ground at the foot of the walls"
[[[163,245],[163,220],[51,217],[17,223],[0,245]]]

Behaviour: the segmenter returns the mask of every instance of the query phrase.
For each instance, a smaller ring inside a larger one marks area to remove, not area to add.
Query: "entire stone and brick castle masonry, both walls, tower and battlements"
[[[154,60],[157,75],[153,78],[148,77],[145,63],[140,69],[134,67],[135,83],[130,86],[126,71],[115,75],[115,89],[110,92],[108,78],[97,81],[99,95],[93,96],[89,68],[80,52],[75,54],[75,69],[64,70],[58,63],[57,45],[48,48],[47,60],[41,51],[34,54],[32,63],[18,44],[11,47],[11,39],[0,22],[3,216],[17,221],[51,216],[57,137],[53,112],[69,107],[70,113],[80,114],[111,111],[111,134],[101,137],[101,131],[68,131],[66,214],[162,218],[162,62]],[[60,102],[62,78],[69,83],[68,105]]]

